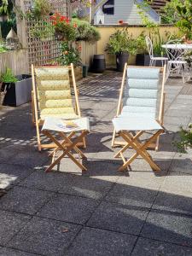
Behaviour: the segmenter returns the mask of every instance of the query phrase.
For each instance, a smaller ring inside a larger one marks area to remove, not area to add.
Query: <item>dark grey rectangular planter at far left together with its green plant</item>
[[[32,76],[20,74],[15,76],[10,68],[2,74],[3,90],[6,92],[3,105],[16,107],[30,102],[32,98]]]

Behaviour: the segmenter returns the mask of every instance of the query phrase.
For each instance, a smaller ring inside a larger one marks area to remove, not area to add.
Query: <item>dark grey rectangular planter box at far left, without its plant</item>
[[[32,76],[21,74],[16,76],[19,80],[15,83],[3,83],[6,90],[3,105],[16,107],[32,100]]]

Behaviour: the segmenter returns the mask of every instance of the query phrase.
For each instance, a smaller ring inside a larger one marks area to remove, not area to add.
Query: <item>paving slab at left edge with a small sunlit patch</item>
[[[29,167],[0,164],[0,189],[6,189],[10,185],[20,183],[32,172],[32,168]]]

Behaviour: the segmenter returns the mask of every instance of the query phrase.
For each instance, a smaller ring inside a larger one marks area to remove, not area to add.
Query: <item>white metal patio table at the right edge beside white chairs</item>
[[[183,60],[183,55],[189,50],[192,50],[192,44],[163,44],[162,48],[166,49],[168,58],[170,61],[167,62],[167,77],[170,74],[182,73],[183,82],[189,81],[192,78],[191,67],[188,62]],[[172,68],[172,65],[174,66]]]

